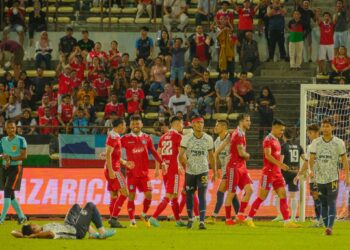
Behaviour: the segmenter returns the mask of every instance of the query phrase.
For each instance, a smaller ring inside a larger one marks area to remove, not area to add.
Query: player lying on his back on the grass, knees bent
[[[98,232],[90,226],[91,222]],[[16,238],[84,239],[87,232],[90,239],[106,239],[115,234],[115,230],[106,230],[103,227],[101,215],[92,202],[86,203],[84,208],[78,204],[73,205],[63,224],[27,224],[22,226],[21,231],[13,230],[11,234]]]

